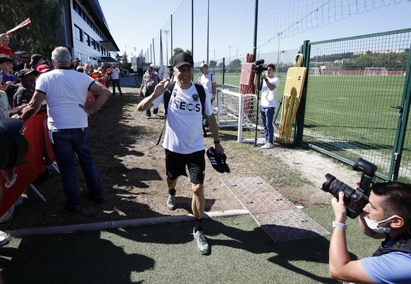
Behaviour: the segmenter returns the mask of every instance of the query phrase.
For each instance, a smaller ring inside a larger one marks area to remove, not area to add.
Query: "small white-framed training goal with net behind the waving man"
[[[237,142],[255,142],[257,111],[256,94],[240,94],[239,87],[223,85],[217,89],[215,111],[220,128],[237,128]],[[258,120],[261,124],[261,120]],[[257,140],[263,142],[263,128],[258,125]],[[261,140],[261,141],[260,141]]]

